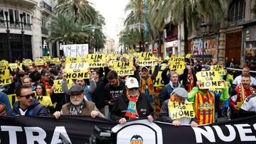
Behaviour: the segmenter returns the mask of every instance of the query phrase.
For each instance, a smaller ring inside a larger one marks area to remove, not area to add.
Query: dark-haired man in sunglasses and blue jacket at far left
[[[13,109],[7,112],[9,116],[48,116],[46,106],[41,105],[35,99],[35,93],[28,85],[21,85],[16,89],[18,101],[14,103]]]

